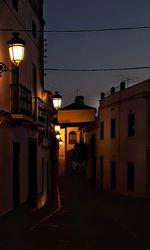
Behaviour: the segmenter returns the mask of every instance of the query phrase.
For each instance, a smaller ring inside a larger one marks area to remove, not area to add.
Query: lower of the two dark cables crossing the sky
[[[62,72],[106,72],[106,71],[125,71],[125,70],[143,70],[150,69],[150,66],[140,67],[122,67],[122,68],[100,68],[100,69],[63,69],[63,68],[45,68],[45,71],[62,71]]]

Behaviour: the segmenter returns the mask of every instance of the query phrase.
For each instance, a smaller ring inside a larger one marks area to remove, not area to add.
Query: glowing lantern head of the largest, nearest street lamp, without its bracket
[[[14,37],[7,43],[9,45],[10,60],[16,66],[24,60],[25,41],[19,37],[19,33],[13,33]]]

